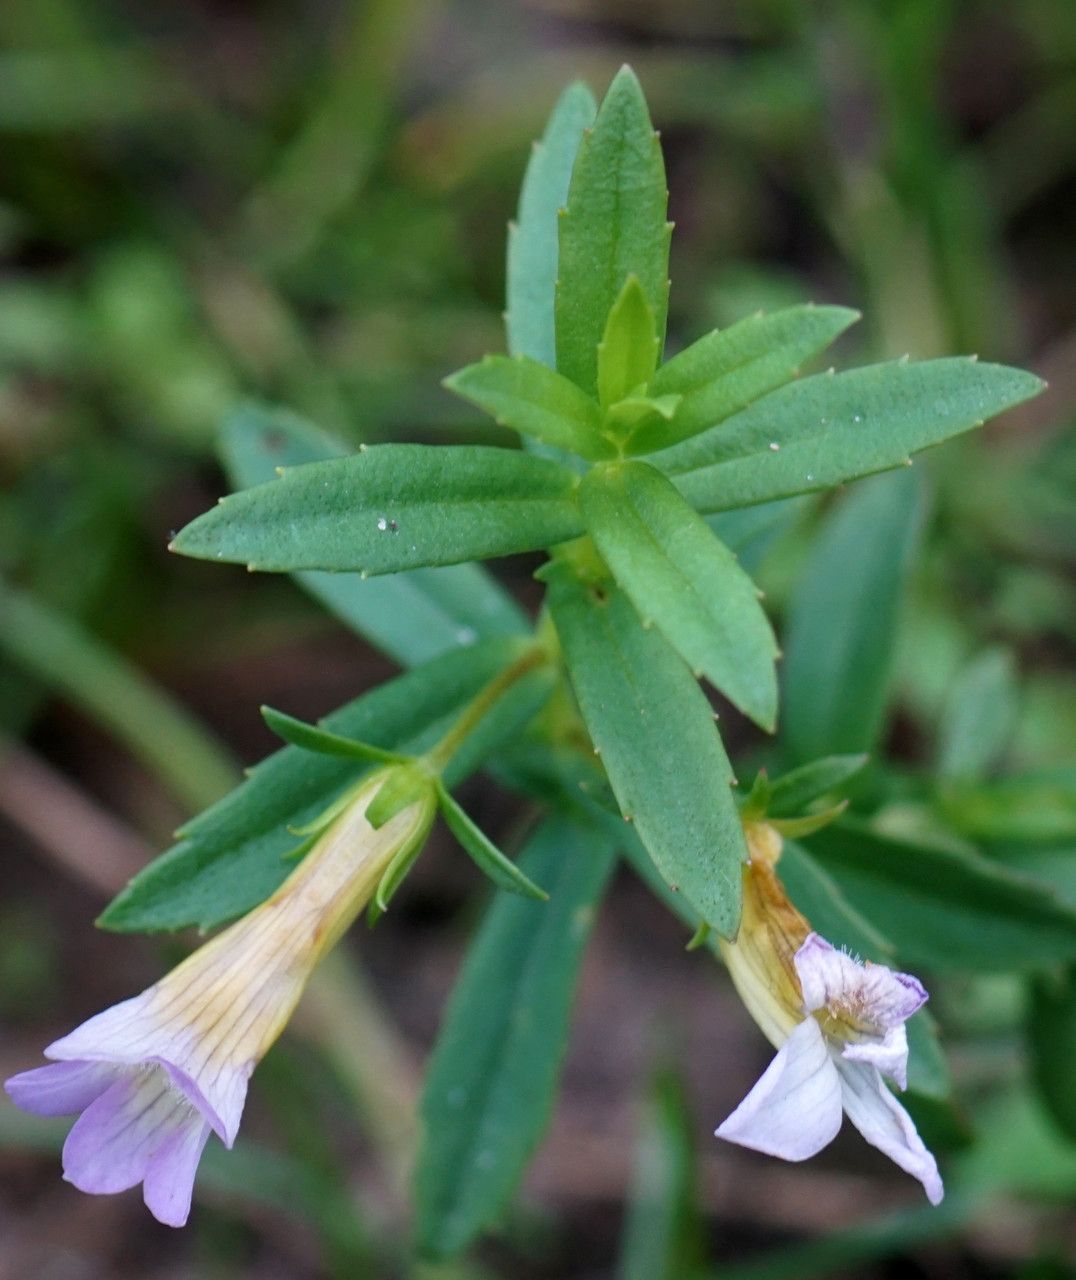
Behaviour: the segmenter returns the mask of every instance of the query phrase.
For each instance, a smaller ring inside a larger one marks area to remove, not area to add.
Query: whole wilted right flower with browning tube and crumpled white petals
[[[830,946],[788,901],[774,865],[780,837],[747,824],[743,916],[722,940],[745,1005],[778,1050],[759,1082],[716,1129],[719,1138],[782,1160],[807,1160],[847,1115],[866,1140],[917,1178],[931,1204],[944,1194],[938,1165],[883,1075],[907,1085],[905,1023],[926,1001],[916,978],[861,963]]]

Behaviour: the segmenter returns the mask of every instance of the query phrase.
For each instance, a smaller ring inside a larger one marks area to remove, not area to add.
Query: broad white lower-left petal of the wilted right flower
[[[841,1082],[814,1018],[800,1023],[759,1083],[715,1132],[782,1160],[807,1160],[841,1128]]]

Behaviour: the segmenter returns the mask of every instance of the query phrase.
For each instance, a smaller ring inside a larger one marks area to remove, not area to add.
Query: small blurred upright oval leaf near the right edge
[[[938,773],[943,778],[985,777],[1009,744],[1017,710],[1012,654],[986,649],[949,690],[938,730]]]

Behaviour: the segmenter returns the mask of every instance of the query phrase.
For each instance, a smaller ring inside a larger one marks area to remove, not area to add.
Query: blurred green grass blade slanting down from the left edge
[[[160,687],[77,622],[0,581],[0,650],[114,733],[191,809],[229,791],[223,746]]]

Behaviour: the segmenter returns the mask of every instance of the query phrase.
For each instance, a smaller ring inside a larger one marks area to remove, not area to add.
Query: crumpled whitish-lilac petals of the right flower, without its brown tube
[[[807,1160],[837,1137],[847,1115],[871,1146],[922,1183],[931,1204],[940,1203],[938,1165],[883,1079],[907,1085],[905,1023],[926,1001],[922,986],[885,965],[861,964],[818,933],[807,934],[793,966],[798,1020],[779,1033],[787,1038],[777,1057],[716,1135],[782,1160]],[[729,968],[742,980],[742,966]]]

